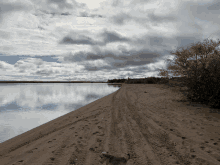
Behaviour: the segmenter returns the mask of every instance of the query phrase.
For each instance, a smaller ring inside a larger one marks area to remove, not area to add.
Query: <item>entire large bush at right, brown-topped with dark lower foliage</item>
[[[220,107],[220,51],[216,49],[220,41],[191,44],[191,47],[179,48],[170,62],[168,70],[174,75],[188,77],[184,85],[188,87],[187,97],[194,101],[206,102],[212,107]],[[162,75],[166,72],[161,70]]]

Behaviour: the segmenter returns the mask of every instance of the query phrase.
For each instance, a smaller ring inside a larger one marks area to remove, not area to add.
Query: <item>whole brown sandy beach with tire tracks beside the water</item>
[[[179,102],[175,90],[123,84],[1,143],[0,164],[220,165],[220,115]]]

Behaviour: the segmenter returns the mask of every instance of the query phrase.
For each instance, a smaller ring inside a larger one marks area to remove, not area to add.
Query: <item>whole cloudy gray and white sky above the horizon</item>
[[[1,0],[0,80],[160,77],[219,20],[219,0]]]

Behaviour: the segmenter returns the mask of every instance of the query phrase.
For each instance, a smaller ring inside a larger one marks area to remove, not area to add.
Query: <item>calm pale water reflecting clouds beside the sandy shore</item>
[[[105,83],[0,84],[0,143],[119,88]]]

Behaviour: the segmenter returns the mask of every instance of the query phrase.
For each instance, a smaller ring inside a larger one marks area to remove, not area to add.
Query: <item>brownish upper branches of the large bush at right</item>
[[[168,70],[171,70],[176,76],[181,75],[182,77],[187,76],[188,78],[198,78],[198,70],[207,69],[207,67],[213,62],[213,59],[218,59],[220,57],[220,51],[215,49],[218,45],[220,45],[220,41],[213,42],[211,40],[210,43],[206,39],[203,43],[193,43],[191,44],[191,47],[180,47],[174,52],[171,51],[170,53],[176,56],[173,61],[170,59],[166,60],[167,62],[170,62]],[[196,59],[190,60],[189,58]],[[161,71],[164,72],[164,70]]]

